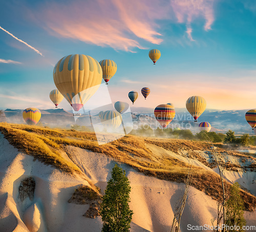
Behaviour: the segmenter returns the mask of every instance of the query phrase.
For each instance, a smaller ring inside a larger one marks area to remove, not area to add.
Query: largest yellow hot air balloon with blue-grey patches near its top
[[[90,56],[69,55],[55,65],[53,80],[74,111],[79,111],[98,90],[102,69],[98,61]]]

